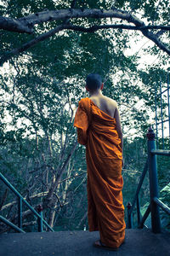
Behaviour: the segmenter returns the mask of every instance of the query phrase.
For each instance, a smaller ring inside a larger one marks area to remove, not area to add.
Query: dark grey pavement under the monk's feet
[[[93,247],[99,232],[59,231],[0,234],[0,256],[170,256],[170,234],[126,230],[126,242],[117,252]]]

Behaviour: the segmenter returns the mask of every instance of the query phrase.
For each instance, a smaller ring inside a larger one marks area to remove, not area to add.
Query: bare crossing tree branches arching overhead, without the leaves
[[[70,29],[74,31],[80,32],[96,32],[99,29],[127,29],[127,30],[139,30],[143,33],[144,37],[149,38],[152,42],[154,42],[160,49],[167,52],[170,55],[170,49],[163,43],[161,43],[158,34],[154,34],[150,32],[149,29],[161,29],[161,31],[169,31],[170,26],[145,26],[144,22],[139,20],[135,15],[128,14],[125,11],[120,9],[110,9],[110,10],[101,10],[101,9],[61,9],[61,10],[46,10],[34,15],[28,15],[24,18],[20,18],[18,20],[14,20],[11,18],[0,18],[0,28],[8,26],[8,29],[12,27],[12,31],[17,31],[17,27],[19,28],[18,32],[24,32],[24,28],[30,28],[36,24],[41,24],[42,22],[53,21],[53,20],[68,20],[71,18],[117,18],[122,20],[127,20],[129,23],[133,23],[134,26],[122,25],[122,24],[113,24],[113,25],[101,25],[101,26],[74,26],[67,22],[63,25],[59,25],[49,32],[43,33],[37,38],[31,39],[31,41],[23,44],[21,47],[12,49],[8,51],[6,54],[3,54],[3,57],[0,59],[0,65],[3,65],[5,61],[8,61],[12,58],[13,55],[19,55],[20,53],[30,49],[35,44],[54,36],[55,33]],[[4,22],[5,19],[5,22]],[[14,24],[11,24],[14,21]],[[17,23],[17,26],[16,26]],[[6,24],[4,26],[4,24]],[[13,29],[14,28],[14,29]],[[25,31],[26,32],[26,31]]]

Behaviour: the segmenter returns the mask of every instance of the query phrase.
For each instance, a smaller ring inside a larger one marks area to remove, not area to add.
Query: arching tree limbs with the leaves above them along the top
[[[108,28],[139,30],[144,37],[149,38],[161,50],[170,55],[170,49],[166,43],[169,36],[168,31],[170,30],[170,27],[167,26],[169,19],[168,1],[164,1],[161,4],[160,2],[156,3],[154,0],[150,1],[150,3],[143,2],[133,3],[133,1],[125,0],[115,1],[114,3],[112,1],[106,1],[105,3],[83,1],[82,3],[82,1],[73,1],[69,8],[77,7],[76,9],[61,9],[63,5],[65,8],[68,8],[68,2],[56,4],[53,1],[49,1],[48,3],[41,4],[37,1],[37,6],[39,5],[40,8],[49,7],[50,9],[43,10],[42,12],[39,12],[37,9],[37,12],[32,14],[33,9],[35,11],[35,5],[30,4],[29,8],[25,9],[26,3],[23,4],[18,1],[18,4],[20,4],[18,14],[15,13],[13,17],[13,12],[11,12],[12,16],[8,17],[8,9],[11,10],[14,8],[14,4],[16,5],[16,3],[8,1],[8,3],[5,3],[5,8],[3,7],[2,14],[4,16],[0,19],[0,28],[10,32],[38,34],[38,36],[31,38],[27,43],[22,44],[21,47],[9,50],[6,54],[3,54],[1,63],[63,30],[81,32],[96,32],[99,29]],[[78,9],[78,7],[81,9]],[[87,7],[88,9],[85,9]],[[141,16],[140,19],[136,16],[138,12],[141,12],[139,14]],[[98,21],[95,22],[92,18]],[[110,22],[107,18],[111,18],[111,24],[108,24]],[[147,18],[147,25],[144,23],[144,18]],[[121,20],[121,24],[117,24],[117,21],[112,24],[113,19]],[[64,20],[64,23],[60,24],[60,20]],[[161,20],[163,25],[157,25],[158,20]],[[49,24],[44,25],[45,22]],[[131,23],[133,23],[133,26],[127,25]],[[38,27],[36,28],[37,25]],[[48,32],[41,33],[44,29],[48,30]],[[153,30],[158,30],[158,32],[152,32]],[[162,35],[163,39],[165,38],[164,40],[161,39]]]

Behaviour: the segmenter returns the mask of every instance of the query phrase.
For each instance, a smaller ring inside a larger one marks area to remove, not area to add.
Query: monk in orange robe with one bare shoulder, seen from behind
[[[88,226],[99,230],[95,247],[117,250],[125,239],[122,202],[122,126],[117,104],[102,94],[99,74],[86,79],[89,97],[78,103],[74,126],[78,143],[86,146]]]

